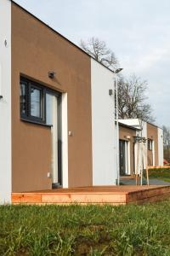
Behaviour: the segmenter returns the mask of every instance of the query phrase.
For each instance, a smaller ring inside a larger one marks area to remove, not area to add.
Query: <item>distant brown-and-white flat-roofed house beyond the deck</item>
[[[119,155],[121,176],[139,173],[141,166],[163,166],[162,129],[139,119],[120,119]]]

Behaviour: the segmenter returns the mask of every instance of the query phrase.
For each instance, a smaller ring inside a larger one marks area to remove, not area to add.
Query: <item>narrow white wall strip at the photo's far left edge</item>
[[[11,2],[0,0],[0,203],[11,201]]]

